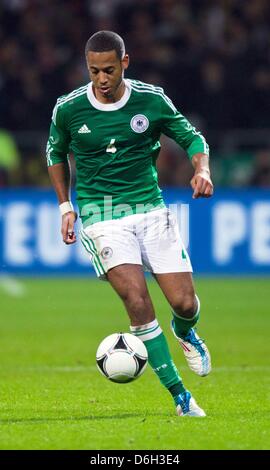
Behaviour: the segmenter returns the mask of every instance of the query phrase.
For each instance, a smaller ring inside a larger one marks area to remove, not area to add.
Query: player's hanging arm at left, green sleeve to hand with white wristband
[[[74,224],[77,214],[74,212],[70,201],[70,167],[68,160],[70,136],[65,125],[64,116],[59,108],[57,103],[53,111],[46,156],[49,176],[62,215],[62,238],[64,243],[72,244],[76,242]]]

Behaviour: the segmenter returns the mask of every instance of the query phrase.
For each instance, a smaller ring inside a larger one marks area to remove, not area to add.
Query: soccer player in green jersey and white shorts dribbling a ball
[[[107,279],[123,300],[130,330],[144,342],[149,363],[172,395],[177,414],[205,416],[171,358],[143,270],[152,273],[171,306],[171,328],[189,367],[207,375],[210,354],[193,328],[200,302],[192,267],[158,187],[156,160],[163,133],[191,159],[193,198],[210,197],[208,145],[162,88],[124,79],[129,56],[119,35],[95,33],[86,43],[85,55],[91,81],[57,100],[47,144],[63,241],[76,241],[68,162],[72,152],[83,224],[80,238],[97,276]]]

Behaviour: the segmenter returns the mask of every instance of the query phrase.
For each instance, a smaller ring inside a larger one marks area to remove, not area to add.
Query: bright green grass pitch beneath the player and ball
[[[107,283],[22,280],[25,295],[0,286],[1,449],[269,449],[268,279],[198,279],[199,332],[212,352],[207,378],[186,367],[169,332],[169,308],[150,292],[186,386],[204,419],[179,418],[148,368],[113,384],[95,367],[108,334],[128,331]]]

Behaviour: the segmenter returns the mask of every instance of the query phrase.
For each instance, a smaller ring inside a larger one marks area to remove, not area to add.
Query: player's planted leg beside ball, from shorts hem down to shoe
[[[144,342],[149,364],[174,398],[178,414],[204,416],[203,410],[185,389],[173,363],[167,340],[155,317],[142,266],[116,266],[107,272],[107,278],[124,302],[130,317],[131,333]],[[182,406],[179,406],[179,397],[182,397]]]

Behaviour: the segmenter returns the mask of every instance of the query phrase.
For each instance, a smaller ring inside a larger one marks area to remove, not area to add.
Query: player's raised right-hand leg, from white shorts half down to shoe
[[[147,219],[147,230],[140,232],[142,260],[156,277],[172,307],[173,332],[189,367],[199,375],[207,375],[211,370],[210,354],[193,329],[199,318],[200,303],[176,219],[166,209],[149,213]]]

